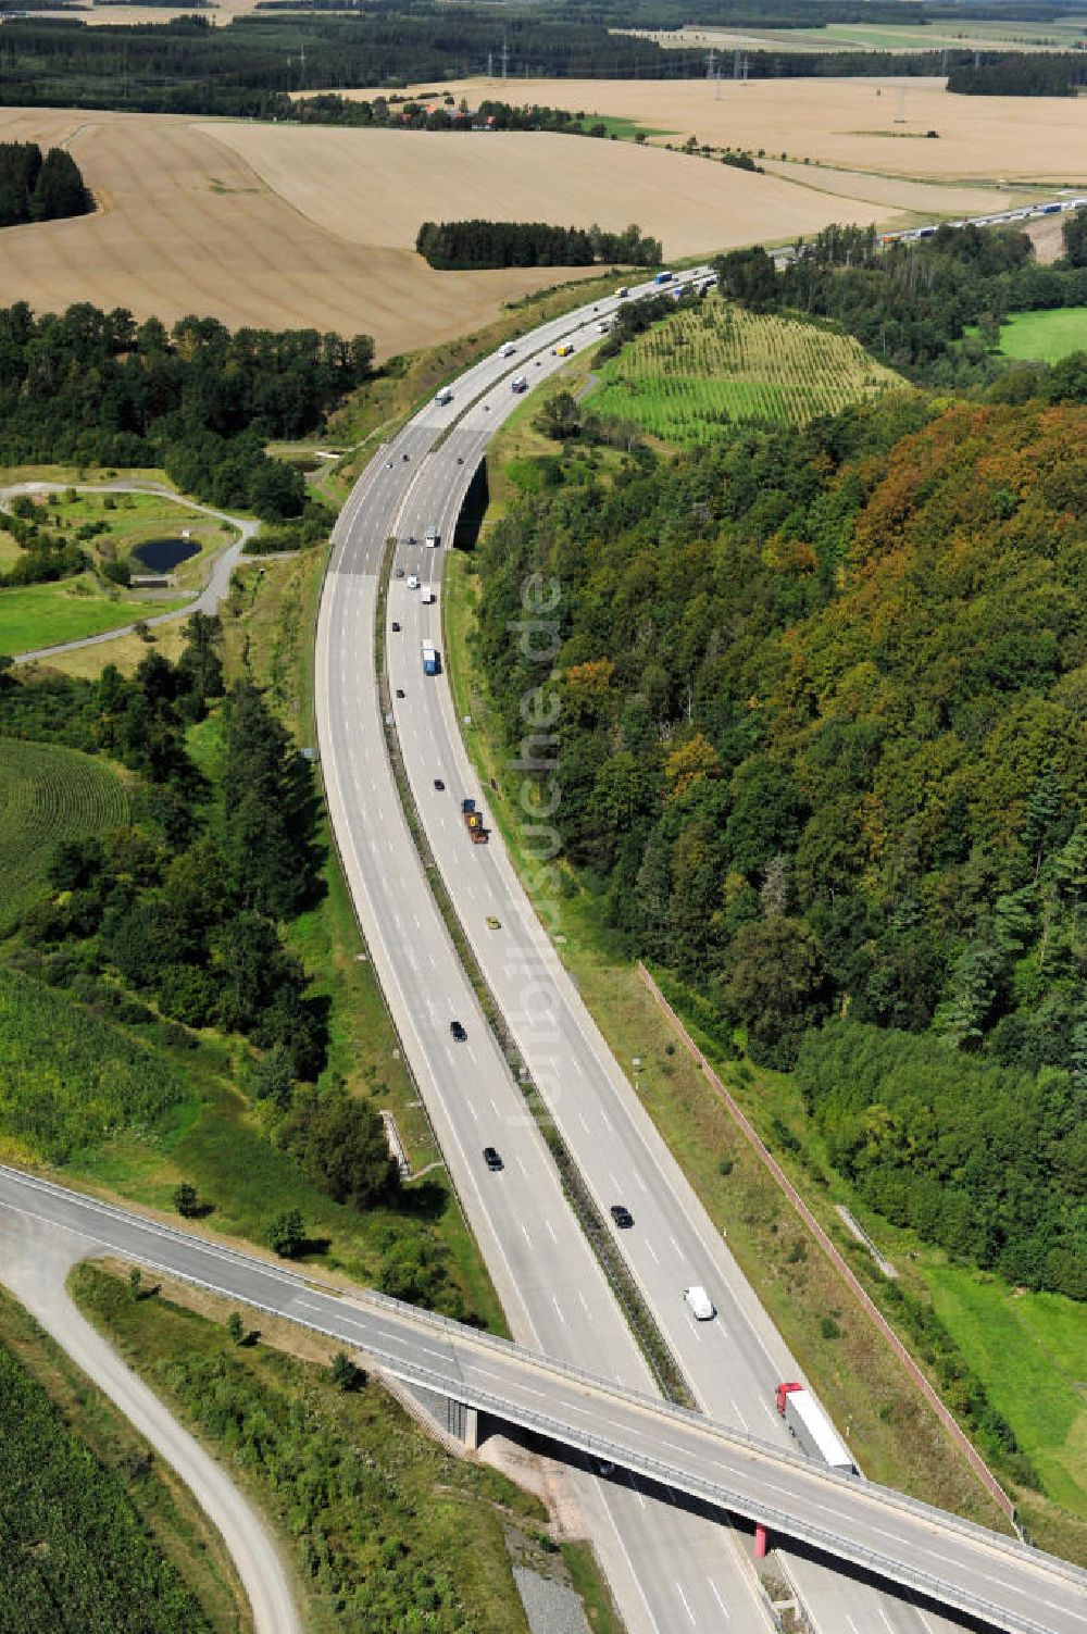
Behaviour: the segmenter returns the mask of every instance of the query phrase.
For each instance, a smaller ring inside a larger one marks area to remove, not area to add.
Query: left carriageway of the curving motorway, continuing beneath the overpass
[[[487,359],[472,373],[492,369]],[[325,796],[374,969],[513,1333],[548,1355],[652,1389],[446,933],[386,755],[373,654],[378,567],[386,538],[404,525],[404,489],[450,418],[450,408],[423,410],[371,461],[337,525],[317,631]],[[453,1042],[451,1020],[467,1028],[464,1044]],[[499,1175],[485,1170],[487,1144],[502,1150]],[[631,1634],[670,1634],[677,1614],[691,1629],[721,1627],[722,1616],[729,1627],[770,1626],[729,1531],[636,1487],[587,1479],[579,1487]]]

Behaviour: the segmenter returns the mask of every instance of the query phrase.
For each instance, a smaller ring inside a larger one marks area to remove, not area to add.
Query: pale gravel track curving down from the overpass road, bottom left
[[[65,1278],[85,1253],[87,1243],[67,1232],[46,1232],[39,1222],[31,1230],[18,1214],[0,1211],[0,1281],[188,1485],[230,1551],[257,1634],[302,1634],[283,1562],[262,1518],[69,1299]]]

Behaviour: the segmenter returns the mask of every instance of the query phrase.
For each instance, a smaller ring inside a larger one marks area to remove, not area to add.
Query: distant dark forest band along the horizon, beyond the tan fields
[[[222,26],[203,15],[101,28],[88,28],[75,16],[10,16],[0,38],[0,105],[278,118],[284,100],[301,90],[397,90],[484,74],[489,54],[497,60],[503,39],[510,78],[706,74],[703,51],[670,51],[646,38],[611,33],[595,13],[518,7],[497,13],[471,5],[450,10],[435,0],[382,0],[347,16],[311,11],[304,59],[297,23],[268,7]],[[616,21],[631,26],[629,15]],[[973,52],[951,52],[953,60],[960,56],[973,62]],[[942,72],[938,51],[749,52],[752,78]]]

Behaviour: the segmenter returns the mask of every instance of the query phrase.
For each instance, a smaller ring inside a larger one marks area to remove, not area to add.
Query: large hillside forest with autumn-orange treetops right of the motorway
[[[539,775],[616,949],[672,971],[726,1044],[799,1057],[892,1217],[1009,1270],[1015,1217],[1015,1276],[1076,1297],[1087,1168],[1069,1150],[1046,1196],[1030,1131],[1059,1144],[1087,1088],[1082,379],[1084,359],[1046,402],[899,392],[799,431],[722,428],[634,449],[606,484],[579,462],[479,546],[479,654],[521,753],[521,587],[561,590]],[[871,1033],[888,1059],[925,1051],[886,1118],[858,1111],[886,1065]],[[866,1070],[827,1095],[847,1046]],[[979,1131],[1002,1178],[963,1167]],[[969,1232],[933,1217],[948,1175]]]

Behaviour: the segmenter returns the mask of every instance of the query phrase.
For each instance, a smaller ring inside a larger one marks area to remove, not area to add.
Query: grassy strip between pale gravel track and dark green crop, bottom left
[[[144,1531],[217,1634],[250,1634],[248,1603],[230,1556],[188,1487],[7,1292],[0,1292],[0,1346],[46,1391],[77,1441],[114,1472]]]

